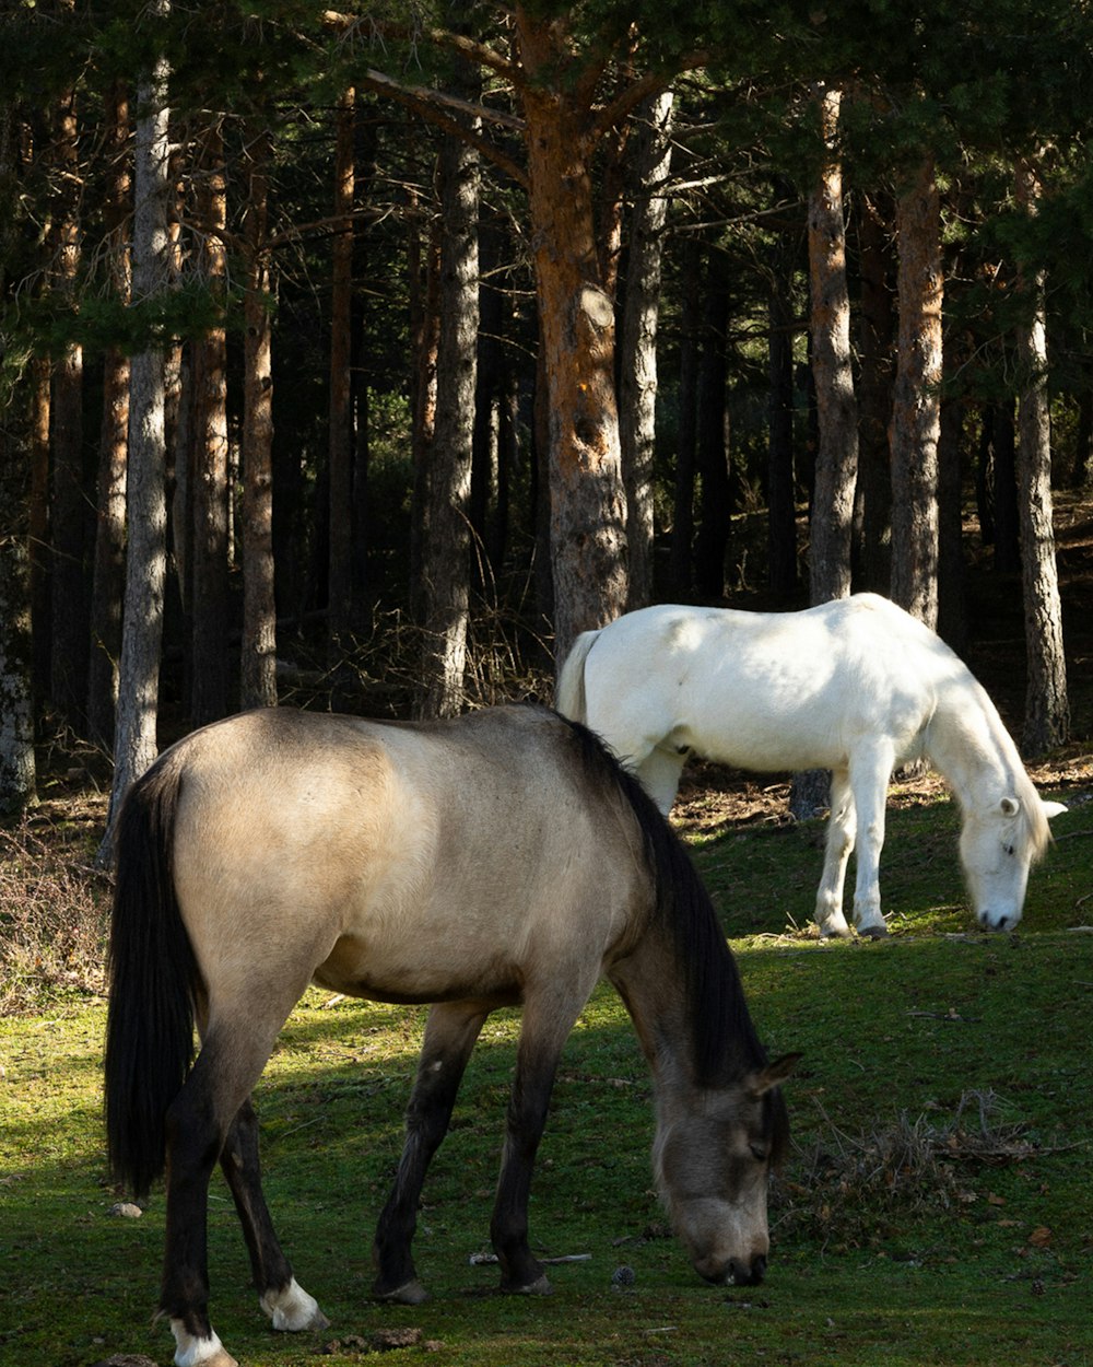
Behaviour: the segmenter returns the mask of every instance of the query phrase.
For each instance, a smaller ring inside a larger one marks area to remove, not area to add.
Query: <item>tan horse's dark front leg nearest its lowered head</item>
[[[501,1289],[548,1296],[551,1284],[527,1243],[531,1170],[546,1125],[557,1062],[575,1013],[541,1012],[525,1003],[516,1074],[508,1103],[501,1173],[490,1221],[490,1239],[501,1264]]]

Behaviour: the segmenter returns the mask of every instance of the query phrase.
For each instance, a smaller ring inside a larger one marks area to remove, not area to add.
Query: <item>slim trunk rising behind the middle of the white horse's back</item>
[[[840,90],[820,90],[820,119],[829,157],[809,195],[812,364],[820,446],[816,454],[809,596],[813,603],[850,592],[854,484],[858,474],[858,406],[850,365],[850,291],[846,276],[843,176],[835,154]]]

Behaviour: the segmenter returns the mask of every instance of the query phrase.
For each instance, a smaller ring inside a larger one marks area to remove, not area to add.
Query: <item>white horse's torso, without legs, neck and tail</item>
[[[660,604],[601,632],[587,722],[623,756],[663,745],[754,770],[843,767],[878,731],[914,753],[954,667],[933,633],[876,595],[799,612]]]

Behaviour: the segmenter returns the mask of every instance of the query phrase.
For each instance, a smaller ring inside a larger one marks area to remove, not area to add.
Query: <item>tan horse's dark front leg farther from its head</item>
[[[417,1304],[426,1299],[414,1270],[411,1244],[418,1199],[433,1154],[448,1129],[459,1083],[482,1029],[481,1006],[433,1006],[425,1027],[417,1080],[406,1111],[406,1143],[399,1172],[376,1226],[373,1292],[384,1300]]]

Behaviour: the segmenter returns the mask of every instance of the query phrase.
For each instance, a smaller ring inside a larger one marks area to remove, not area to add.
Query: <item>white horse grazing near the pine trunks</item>
[[[884,935],[878,864],[892,770],[925,757],[963,816],[960,861],[980,924],[1021,920],[1048,817],[995,704],[933,632],[858,593],[803,612],[641,608],[582,633],[557,708],[628,764],[663,812],[689,755],[762,772],[831,770],[816,897],[821,935],[848,935],[843,880],[855,843],[854,923]]]

